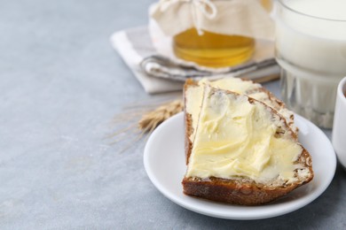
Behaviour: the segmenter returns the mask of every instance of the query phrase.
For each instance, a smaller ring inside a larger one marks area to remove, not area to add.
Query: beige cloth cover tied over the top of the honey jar
[[[150,16],[164,35],[195,28],[219,35],[240,35],[273,41],[274,22],[259,0],[161,0]]]

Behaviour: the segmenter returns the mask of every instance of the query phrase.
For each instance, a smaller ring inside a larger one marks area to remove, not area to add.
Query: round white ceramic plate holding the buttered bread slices
[[[185,165],[184,114],[163,122],[145,145],[144,164],[153,185],[174,203],[188,210],[223,219],[266,219],[302,208],[320,196],[333,180],[336,157],[331,142],[309,120],[295,115],[299,141],[311,153],[315,173],[310,183],[274,203],[249,207],[215,203],[183,194]]]

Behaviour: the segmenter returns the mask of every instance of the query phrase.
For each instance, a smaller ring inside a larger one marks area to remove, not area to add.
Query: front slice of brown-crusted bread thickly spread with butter
[[[182,181],[188,196],[257,205],[313,178],[311,156],[287,119],[254,98],[205,85],[194,133]]]

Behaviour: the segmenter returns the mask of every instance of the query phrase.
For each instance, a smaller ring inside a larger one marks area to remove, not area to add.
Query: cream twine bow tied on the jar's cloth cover
[[[203,35],[201,29],[201,19],[198,18],[197,12],[201,12],[207,19],[215,19],[217,15],[216,5],[210,0],[161,0],[159,2],[159,8],[161,12],[166,12],[167,9],[173,4],[191,4],[191,14],[193,16],[193,25],[196,28],[199,35]]]

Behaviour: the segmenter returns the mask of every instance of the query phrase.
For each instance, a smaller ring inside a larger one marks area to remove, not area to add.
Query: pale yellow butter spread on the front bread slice
[[[263,103],[216,90],[202,105],[186,176],[241,176],[258,183],[299,180],[296,171],[308,172],[304,165],[294,164],[303,147],[289,129],[278,134],[284,122]]]

